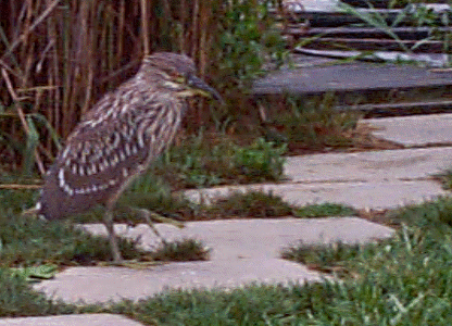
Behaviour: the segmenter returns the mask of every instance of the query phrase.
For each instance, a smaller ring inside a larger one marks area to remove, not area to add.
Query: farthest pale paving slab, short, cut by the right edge
[[[406,147],[452,143],[452,114],[367,118],[378,129],[373,135]]]

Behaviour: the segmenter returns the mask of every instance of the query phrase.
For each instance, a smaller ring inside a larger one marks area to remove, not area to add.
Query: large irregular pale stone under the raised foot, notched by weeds
[[[389,227],[357,217],[208,221],[187,223],[184,229],[155,225],[167,240],[194,238],[212,249],[206,262],[167,263],[146,269],[124,267],[71,267],[54,279],[35,286],[54,299],[88,303],[140,299],[170,289],[234,288],[252,283],[304,283],[322,275],[279,259],[284,247],[304,243],[365,242],[387,238]],[[93,234],[106,235],[102,225],[85,225]],[[145,248],[158,239],[147,225],[116,231],[136,239]]]

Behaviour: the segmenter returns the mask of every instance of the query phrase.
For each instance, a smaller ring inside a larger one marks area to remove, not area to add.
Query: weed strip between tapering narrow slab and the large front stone
[[[164,186],[165,189],[170,189]],[[155,192],[134,190],[125,193],[115,210],[115,222],[128,224],[143,223],[127,206],[146,209],[176,221],[205,221],[221,218],[268,218],[268,217],[328,217],[355,216],[357,212],[340,203],[322,203],[297,206],[286,202],[274,192],[262,190],[233,191],[209,205],[194,203],[180,192],[163,189]],[[95,210],[76,217],[78,223],[101,222],[102,210]]]

